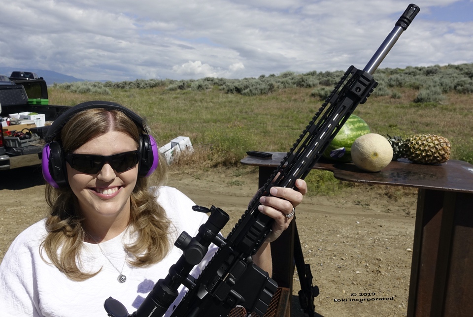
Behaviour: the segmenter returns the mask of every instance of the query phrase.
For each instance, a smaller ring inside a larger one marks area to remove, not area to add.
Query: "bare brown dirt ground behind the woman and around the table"
[[[12,166],[22,163],[24,157]],[[29,163],[36,165],[0,172],[0,260],[14,237],[46,213],[39,160],[32,156]],[[225,210],[231,216],[226,234],[255,194],[257,178],[257,169],[248,166],[171,169],[168,184],[199,205]],[[304,260],[320,289],[314,301],[319,316],[406,315],[415,206],[416,190],[383,186],[356,185],[336,196],[304,198],[297,226]],[[307,316],[297,299],[297,272],[293,282],[291,316]]]

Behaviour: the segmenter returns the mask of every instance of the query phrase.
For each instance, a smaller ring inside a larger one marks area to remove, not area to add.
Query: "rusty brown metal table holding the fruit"
[[[285,153],[272,158],[245,157],[242,164],[259,166],[263,186]],[[473,165],[448,160],[441,165],[391,162],[378,173],[363,172],[353,163],[319,161],[314,169],[332,171],[342,181],[418,189],[407,316],[472,316],[473,300]],[[293,228],[271,248],[273,278],[292,293]],[[287,258],[287,261],[281,259]],[[287,315],[289,316],[289,315]]]

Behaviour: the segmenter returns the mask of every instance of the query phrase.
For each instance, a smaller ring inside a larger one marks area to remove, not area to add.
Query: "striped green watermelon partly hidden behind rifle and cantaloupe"
[[[322,156],[336,162],[351,162],[351,145],[358,137],[370,132],[370,127],[363,119],[351,115]]]

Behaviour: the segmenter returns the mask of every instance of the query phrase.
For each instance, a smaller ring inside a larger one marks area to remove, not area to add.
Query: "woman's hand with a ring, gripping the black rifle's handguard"
[[[304,180],[296,180],[295,185],[298,190],[272,187],[270,189],[271,196],[263,196],[260,198],[261,205],[258,206],[258,210],[262,214],[274,219],[272,231],[265,242],[276,240],[294,219],[294,217],[288,218],[286,215],[293,212],[294,208],[301,203],[304,195],[307,193],[307,184]]]

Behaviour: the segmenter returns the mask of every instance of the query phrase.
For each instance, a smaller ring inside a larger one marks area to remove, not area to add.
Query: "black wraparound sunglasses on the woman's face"
[[[66,161],[70,167],[85,174],[97,174],[105,163],[118,173],[128,171],[138,163],[139,151],[123,152],[114,155],[102,156],[92,154],[66,154]]]

